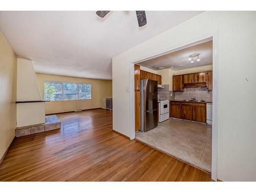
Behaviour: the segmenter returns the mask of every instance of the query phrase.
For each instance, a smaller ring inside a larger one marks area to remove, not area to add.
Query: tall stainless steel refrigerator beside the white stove
[[[157,81],[140,80],[140,131],[146,132],[157,126]]]

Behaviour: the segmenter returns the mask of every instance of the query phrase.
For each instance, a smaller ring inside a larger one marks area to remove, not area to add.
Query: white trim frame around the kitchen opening
[[[213,74],[213,91],[212,91],[212,152],[211,152],[211,179],[217,181],[217,163],[218,163],[218,66],[219,66],[219,32],[215,31],[210,34],[192,39],[187,42],[182,42],[179,45],[161,50],[157,53],[147,55],[135,60],[130,61],[130,139],[135,139],[135,99],[134,99],[134,63],[148,60],[151,58],[165,55],[168,52],[184,47],[194,42],[212,38],[212,74]]]

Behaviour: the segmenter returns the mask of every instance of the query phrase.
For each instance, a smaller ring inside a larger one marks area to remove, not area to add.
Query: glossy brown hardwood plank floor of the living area
[[[58,114],[61,129],[15,138],[0,181],[210,181],[210,175],[112,131],[112,112]]]

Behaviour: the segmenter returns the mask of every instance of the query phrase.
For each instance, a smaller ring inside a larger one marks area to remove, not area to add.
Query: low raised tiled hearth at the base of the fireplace
[[[46,132],[50,130],[60,129],[61,122],[56,115],[46,116],[46,122],[36,125],[28,125],[17,127],[15,129],[15,136],[22,137],[25,135],[32,135],[35,133]]]

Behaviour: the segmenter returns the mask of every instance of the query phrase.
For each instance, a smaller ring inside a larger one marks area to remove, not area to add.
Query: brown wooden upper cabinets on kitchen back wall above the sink
[[[212,90],[212,72],[190,73],[173,76],[173,91],[184,91],[183,88],[207,87]]]

